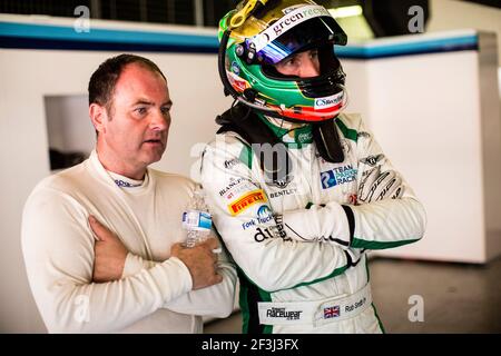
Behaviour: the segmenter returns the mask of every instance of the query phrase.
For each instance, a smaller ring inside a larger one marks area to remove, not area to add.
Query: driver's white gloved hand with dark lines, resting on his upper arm
[[[383,199],[402,197],[402,178],[394,170],[381,172],[381,166],[372,168],[362,178],[358,187],[358,201],[371,202]]]

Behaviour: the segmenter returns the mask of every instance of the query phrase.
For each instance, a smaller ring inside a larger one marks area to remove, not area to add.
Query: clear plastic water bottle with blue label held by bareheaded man
[[[183,212],[183,228],[187,230],[186,247],[194,247],[196,244],[205,240],[210,234],[213,220],[210,212],[205,204],[202,187],[197,187],[193,197]]]

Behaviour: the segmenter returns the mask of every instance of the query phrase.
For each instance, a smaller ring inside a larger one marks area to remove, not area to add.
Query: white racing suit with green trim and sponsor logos
[[[358,205],[369,171],[394,169],[360,116],[335,122],[344,161],[325,161],[311,130],[296,129],[288,182],[267,181],[235,132],[217,135],[204,152],[213,221],[239,267],[244,333],[383,332],[364,251],[419,240],[425,212],[400,175],[396,199]]]

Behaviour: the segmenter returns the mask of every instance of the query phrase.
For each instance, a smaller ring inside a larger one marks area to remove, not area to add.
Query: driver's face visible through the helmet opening
[[[284,58],[275,65],[276,70],[284,76],[311,78],[320,76],[318,50],[311,49]]]

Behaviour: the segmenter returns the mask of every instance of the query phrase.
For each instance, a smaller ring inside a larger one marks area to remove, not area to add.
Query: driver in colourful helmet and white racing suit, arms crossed
[[[425,212],[346,106],[334,44],[308,0],[248,0],[220,21],[237,101],[203,157],[214,222],[239,266],[246,333],[380,333],[367,249],[419,240]]]

